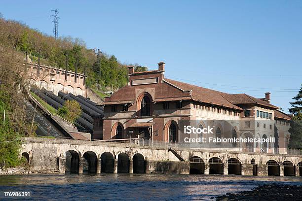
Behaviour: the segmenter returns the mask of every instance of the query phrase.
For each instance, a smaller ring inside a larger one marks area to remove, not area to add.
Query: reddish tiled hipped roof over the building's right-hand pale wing
[[[233,104],[259,104],[274,109],[279,109],[279,107],[272,105],[264,100],[257,99],[247,94],[225,94],[223,97]]]

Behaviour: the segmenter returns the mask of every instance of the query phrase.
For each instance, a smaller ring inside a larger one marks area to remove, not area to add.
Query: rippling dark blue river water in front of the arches
[[[35,200],[211,200],[267,183],[302,185],[302,177],[178,174],[0,176],[3,191],[31,191]]]

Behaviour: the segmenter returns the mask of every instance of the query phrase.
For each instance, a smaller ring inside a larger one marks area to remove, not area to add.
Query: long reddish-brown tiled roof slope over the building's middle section
[[[164,79],[164,81],[180,88],[181,90],[191,91],[191,98],[193,100],[242,110],[242,108],[229,102],[228,100],[226,100],[223,97],[223,95],[227,95],[227,93],[223,93],[223,92],[219,92],[219,91],[215,91],[215,90],[207,89],[207,88],[203,88],[203,87],[198,87],[195,85],[191,85],[191,84],[187,84],[184,82],[179,82],[179,81],[175,81],[175,80],[171,80],[171,79],[166,79],[166,78]]]

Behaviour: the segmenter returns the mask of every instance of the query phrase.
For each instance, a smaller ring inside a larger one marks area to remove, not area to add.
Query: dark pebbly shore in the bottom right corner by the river
[[[266,184],[251,191],[227,193],[217,201],[302,201],[302,186],[287,184]]]

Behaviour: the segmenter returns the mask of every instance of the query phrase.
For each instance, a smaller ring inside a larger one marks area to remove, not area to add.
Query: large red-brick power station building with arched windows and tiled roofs
[[[269,93],[263,99],[227,94],[167,79],[164,73],[163,62],[151,71],[134,72],[134,67],[129,67],[128,85],[104,100],[103,139],[144,137],[183,142],[185,137],[195,137],[181,134],[184,121],[198,122],[199,128],[214,127],[216,137],[268,138],[275,135],[275,117],[290,120],[269,103]],[[289,137],[284,132],[283,139]],[[244,146],[265,151],[274,147]]]

